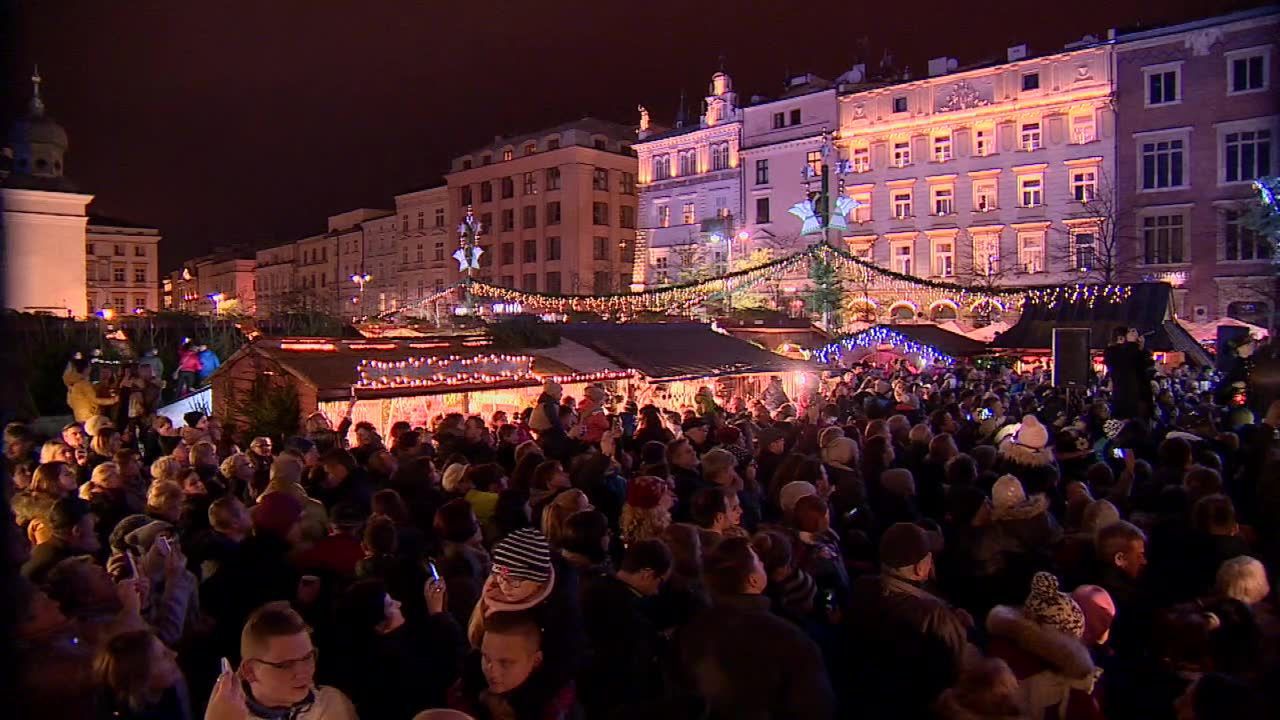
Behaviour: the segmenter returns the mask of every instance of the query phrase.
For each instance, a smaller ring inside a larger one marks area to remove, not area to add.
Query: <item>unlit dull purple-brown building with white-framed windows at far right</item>
[[[1280,165],[1277,37],[1274,6],[1115,37],[1126,252],[1192,322],[1275,327],[1272,250],[1242,219]]]

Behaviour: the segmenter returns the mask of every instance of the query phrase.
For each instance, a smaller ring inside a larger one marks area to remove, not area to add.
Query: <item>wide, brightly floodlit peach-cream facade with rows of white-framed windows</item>
[[[966,70],[940,58],[929,77],[841,94],[849,160],[846,247],[905,275],[992,287],[1117,281],[1111,46]],[[1106,275],[1106,277],[1105,277]],[[945,292],[865,287],[861,319],[965,318]],[[925,305],[927,304],[927,305]],[[984,314],[989,314],[984,309]]]

